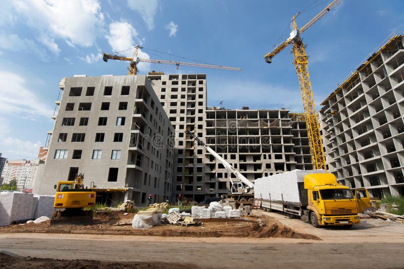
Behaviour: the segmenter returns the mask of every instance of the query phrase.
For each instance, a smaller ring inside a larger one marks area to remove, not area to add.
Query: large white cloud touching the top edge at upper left
[[[97,0],[16,0],[15,12],[49,50],[59,53],[55,40],[69,45],[91,46],[104,24]]]

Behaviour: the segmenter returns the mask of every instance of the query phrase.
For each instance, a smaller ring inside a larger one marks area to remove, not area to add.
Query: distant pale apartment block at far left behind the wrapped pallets
[[[16,179],[19,190],[32,189],[40,163],[39,159],[8,160],[1,175],[4,178],[3,184],[10,183],[11,180]]]

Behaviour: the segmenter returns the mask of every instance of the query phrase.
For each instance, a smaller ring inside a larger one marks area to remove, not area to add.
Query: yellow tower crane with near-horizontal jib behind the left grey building
[[[168,60],[151,60],[151,59],[141,59],[137,57],[137,51],[139,48],[143,48],[142,46],[135,46],[135,50],[133,52],[133,57],[122,57],[117,55],[111,55],[104,52],[103,60],[104,62],[108,62],[108,59],[119,60],[119,61],[128,61],[129,62],[129,73],[128,75],[136,75],[139,70],[137,69],[137,64],[139,62],[143,63],[154,63],[154,64],[166,64],[166,65],[175,65],[177,66],[177,70],[179,66],[193,66],[193,67],[203,67],[203,68],[214,68],[214,69],[224,69],[231,71],[241,71],[241,68],[237,67],[228,67],[228,66],[216,66],[209,64],[197,64],[197,63],[184,63],[184,62],[175,62]]]

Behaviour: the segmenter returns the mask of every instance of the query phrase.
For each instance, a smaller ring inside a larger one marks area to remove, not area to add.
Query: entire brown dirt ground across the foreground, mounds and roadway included
[[[280,213],[254,211],[256,217],[245,221],[205,221],[203,226],[187,228],[158,226],[136,233],[130,232],[131,226],[113,225],[133,218],[119,214],[99,216],[92,226],[2,227],[0,250],[22,257],[0,255],[0,267],[404,267],[404,224],[365,219],[351,229],[316,229]],[[266,226],[260,227],[258,219]]]

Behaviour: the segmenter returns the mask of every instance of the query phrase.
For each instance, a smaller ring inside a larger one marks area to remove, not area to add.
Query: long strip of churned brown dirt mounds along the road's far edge
[[[119,221],[130,224],[135,213],[107,211],[97,213],[92,225],[50,225],[50,221],[40,224],[11,225],[0,227],[0,233],[55,233],[55,234],[104,234],[139,235],[163,237],[249,237],[249,238],[320,238],[301,234],[283,226],[280,222],[265,215],[248,216],[243,219],[207,219],[199,226],[158,225],[148,230],[133,229],[131,225],[116,226]]]

